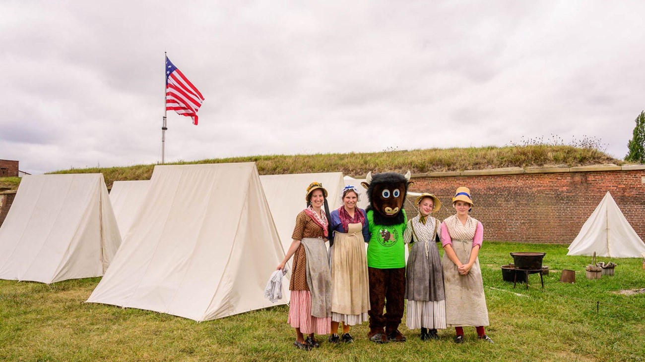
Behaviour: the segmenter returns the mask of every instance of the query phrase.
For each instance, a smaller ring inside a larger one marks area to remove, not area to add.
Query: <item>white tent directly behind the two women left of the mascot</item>
[[[273,221],[278,228],[284,252],[289,250],[295,217],[306,207],[304,196],[312,182],[320,182],[327,190],[329,211],[341,207],[341,191],[345,184],[342,173],[296,173],[292,175],[260,176],[266,201],[269,203]]]

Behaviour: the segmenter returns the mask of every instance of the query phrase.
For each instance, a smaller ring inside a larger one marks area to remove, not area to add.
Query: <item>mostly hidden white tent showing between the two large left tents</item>
[[[130,230],[134,216],[148,192],[150,180],[115,181],[110,191],[110,201],[114,216],[121,231],[121,238]]]

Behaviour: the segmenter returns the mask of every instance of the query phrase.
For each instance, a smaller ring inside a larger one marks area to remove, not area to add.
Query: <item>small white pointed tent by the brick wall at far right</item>
[[[575,240],[569,245],[567,255],[610,256],[612,258],[638,258],[645,252],[645,243],[627,222],[618,205],[607,193],[593,211]]]

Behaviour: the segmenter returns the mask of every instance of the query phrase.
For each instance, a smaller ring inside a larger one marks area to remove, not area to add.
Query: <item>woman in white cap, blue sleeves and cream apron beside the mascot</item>
[[[330,216],[330,267],[332,269],[332,329],[330,343],[352,343],[350,325],[368,320],[370,291],[368,283],[365,240],[370,228],[365,211],[356,207],[361,194],[354,186],[342,190],[342,206]],[[338,327],[342,323],[342,336]]]

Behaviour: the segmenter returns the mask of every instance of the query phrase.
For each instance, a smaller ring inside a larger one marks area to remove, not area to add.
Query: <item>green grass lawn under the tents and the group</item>
[[[500,265],[511,251],[545,251],[551,273],[530,276],[530,289],[502,281]],[[474,328],[455,345],[454,330],[439,341],[421,341],[418,330],[401,331],[405,343],[377,345],[367,325],[352,329],[355,343],[311,352],[292,346],[286,306],[196,323],[147,310],[83,303],[100,278],[52,285],[0,280],[1,361],[642,361],[645,359],[645,294],[613,291],[645,288],[640,259],[614,259],[615,276],[587,280],[590,257],[566,256],[566,246],[484,243],[480,263],[490,313],[488,335]],[[609,258],[599,258],[610,261]],[[576,283],[558,280],[573,269]],[[268,278],[268,276],[267,276]],[[521,295],[517,295],[521,294]],[[597,312],[597,301],[600,307]],[[448,306],[449,307],[449,306]]]

